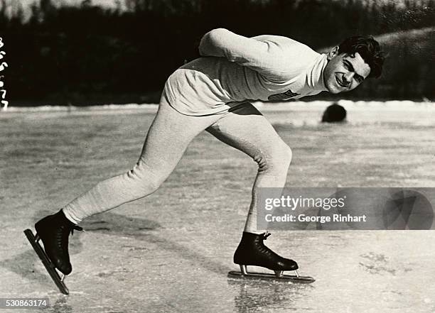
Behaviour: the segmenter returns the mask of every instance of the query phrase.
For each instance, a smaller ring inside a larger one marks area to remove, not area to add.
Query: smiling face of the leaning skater
[[[323,79],[328,92],[338,94],[355,89],[369,74],[370,67],[359,53],[338,54],[338,47],[335,47],[328,53]]]

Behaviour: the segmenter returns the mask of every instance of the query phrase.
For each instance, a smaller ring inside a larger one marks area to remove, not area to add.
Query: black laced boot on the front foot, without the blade
[[[276,272],[284,270],[297,270],[298,264],[294,260],[282,258],[274,251],[264,246],[263,241],[270,234],[252,234],[244,232],[237,250],[234,253],[234,263],[239,264],[243,271],[246,265],[262,266]]]

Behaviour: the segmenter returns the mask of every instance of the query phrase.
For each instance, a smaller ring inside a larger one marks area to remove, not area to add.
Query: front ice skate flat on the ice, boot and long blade
[[[242,241],[234,254],[234,263],[240,265],[240,272],[230,271],[229,277],[257,278],[267,280],[291,280],[293,282],[313,282],[308,276],[300,276],[297,272],[298,264],[294,260],[283,258],[264,245],[264,240],[270,234],[252,234],[244,232]],[[272,273],[250,273],[247,265],[260,266],[273,270]],[[296,275],[283,275],[284,270],[294,270]]]

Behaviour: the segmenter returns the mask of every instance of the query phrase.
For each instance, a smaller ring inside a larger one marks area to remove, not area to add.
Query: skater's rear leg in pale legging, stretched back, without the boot
[[[139,161],[122,175],[97,183],[63,208],[76,224],[88,216],[155,192],[181,159],[190,141],[220,116],[186,116],[163,98]]]

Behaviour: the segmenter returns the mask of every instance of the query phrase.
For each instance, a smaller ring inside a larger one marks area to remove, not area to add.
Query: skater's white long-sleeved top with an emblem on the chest
[[[218,114],[246,100],[286,101],[326,90],[326,55],[277,35],[206,33],[200,55],[166,82],[166,97],[187,115]]]

